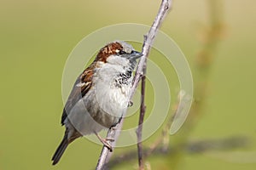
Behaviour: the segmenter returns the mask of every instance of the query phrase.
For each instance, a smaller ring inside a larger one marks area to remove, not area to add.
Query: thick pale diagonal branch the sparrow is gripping
[[[133,79],[129,99],[132,98],[132,96],[135,93],[135,90],[137,88],[137,84],[140,81],[140,79],[142,78],[141,76],[143,75],[143,71],[145,71],[144,68],[146,68],[146,60],[147,60],[147,57],[149,54],[149,50],[154,42],[154,37],[156,36],[157,30],[160,27],[161,23],[163,22],[166,14],[167,14],[167,11],[171,6],[172,6],[172,0],[162,0],[159,12],[154,19],[154,23],[151,26],[150,30],[148,31],[147,36],[145,36],[145,40],[143,42],[143,52],[142,52],[143,57],[140,59],[138,66],[137,66],[137,71],[136,71],[135,77]],[[119,123],[119,125],[117,125],[117,127],[115,127],[118,132],[120,132],[122,124],[123,124],[123,119]],[[115,141],[116,141],[119,137],[119,133],[115,133],[114,131],[115,131],[114,128],[110,128],[108,130],[107,138],[115,139]],[[112,143],[110,143],[110,144],[112,144]],[[112,145],[114,146],[114,143]],[[100,169],[106,168],[105,165],[106,165],[106,163],[108,163],[108,160],[111,155],[112,154],[109,152],[108,148],[106,146],[103,146],[102,153],[101,153],[101,156],[97,163],[96,169],[100,170]]]

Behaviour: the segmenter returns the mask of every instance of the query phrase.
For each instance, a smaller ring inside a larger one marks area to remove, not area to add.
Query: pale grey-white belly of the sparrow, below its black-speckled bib
[[[129,89],[128,86],[111,88],[100,84],[90,88],[68,114],[68,124],[71,123],[82,135],[114,126],[126,111]]]

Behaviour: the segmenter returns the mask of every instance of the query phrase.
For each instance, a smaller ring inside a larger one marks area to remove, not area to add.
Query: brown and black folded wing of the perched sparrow
[[[92,63],[84,72],[77,78],[73,85],[73,89],[69,94],[66,105],[63,109],[61,116],[61,125],[64,125],[64,121],[67,118],[68,113],[72,110],[73,106],[82,99],[92,86],[93,68],[95,63]]]

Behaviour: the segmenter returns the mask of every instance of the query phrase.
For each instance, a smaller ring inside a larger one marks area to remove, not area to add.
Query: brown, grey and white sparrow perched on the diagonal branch
[[[125,113],[132,71],[141,56],[126,42],[111,42],[78,77],[61,116],[66,131],[52,157],[53,165],[60,161],[68,144],[90,133],[111,150],[108,139],[102,139],[98,132],[115,126]]]

